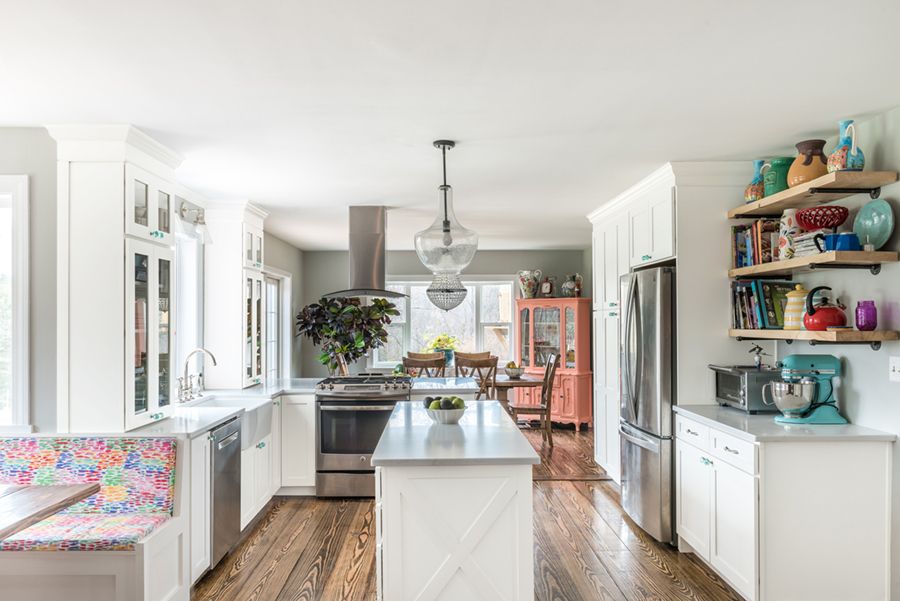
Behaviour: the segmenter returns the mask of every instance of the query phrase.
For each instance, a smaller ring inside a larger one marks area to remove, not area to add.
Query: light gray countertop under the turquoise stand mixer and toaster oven
[[[872,430],[854,424],[807,425],[779,424],[777,414],[750,415],[731,407],[719,405],[677,405],[675,413],[701,424],[725,430],[732,436],[747,442],[894,442],[897,436],[890,432]]]

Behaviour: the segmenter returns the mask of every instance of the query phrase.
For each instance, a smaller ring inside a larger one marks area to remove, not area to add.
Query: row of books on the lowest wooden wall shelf
[[[791,282],[734,280],[731,282],[731,326],[741,330],[784,328]]]

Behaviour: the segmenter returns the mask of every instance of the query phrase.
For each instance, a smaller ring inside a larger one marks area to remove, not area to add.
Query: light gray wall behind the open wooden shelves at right
[[[836,128],[836,124],[835,124]],[[900,109],[889,111],[859,124],[859,146],[866,155],[866,170],[900,170]],[[830,152],[835,145],[832,136],[826,145]],[[887,186],[882,198],[900,217],[900,184]],[[837,204],[851,209],[850,218],[841,227],[852,228],[855,209],[870,200],[858,195]],[[900,249],[900,235],[894,230],[891,240],[882,250]],[[875,300],[878,307],[879,329],[900,329],[900,264],[885,265],[881,274],[867,271],[823,271],[816,275],[802,274],[795,278],[807,288],[828,285],[847,305],[847,316],[853,323],[853,312],[859,300]],[[723,326],[724,327],[724,326]],[[839,400],[846,417],[853,423],[900,434],[900,383],[888,380],[888,360],[900,355],[900,343],[885,343],[880,351],[863,346],[810,347],[795,342],[791,346],[779,343],[780,357],[791,353],[828,353],[844,359],[845,375]],[[900,443],[894,445],[893,512],[891,539],[893,541],[892,598],[900,598]],[[840,474],[835,474],[838,482]],[[838,508],[835,508],[838,510]]]

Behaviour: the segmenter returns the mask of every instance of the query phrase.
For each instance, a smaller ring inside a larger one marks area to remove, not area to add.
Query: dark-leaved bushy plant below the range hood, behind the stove
[[[331,373],[349,375],[349,364],[387,342],[386,325],[399,315],[396,305],[372,299],[363,305],[358,298],[321,298],[297,314],[297,335],[322,347],[319,362]]]

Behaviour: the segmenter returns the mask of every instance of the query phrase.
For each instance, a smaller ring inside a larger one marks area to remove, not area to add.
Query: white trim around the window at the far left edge
[[[28,287],[30,284],[28,232],[29,198],[27,175],[0,175],[0,196],[9,196],[12,205],[12,345],[13,357],[19,360],[10,370],[12,383],[12,423],[0,425],[0,433],[32,432],[29,400],[29,330]]]

